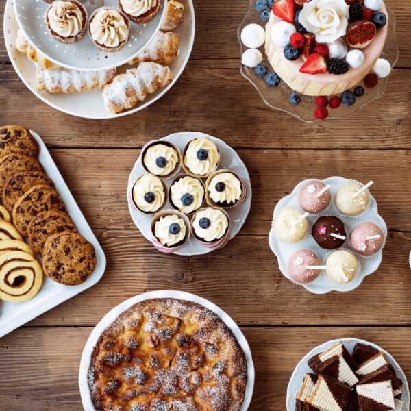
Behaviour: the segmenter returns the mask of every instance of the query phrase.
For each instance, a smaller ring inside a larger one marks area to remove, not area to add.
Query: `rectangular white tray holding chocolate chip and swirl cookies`
[[[66,203],[67,212],[70,214],[71,219],[73,219],[80,234],[82,234],[82,236],[90,241],[95,247],[97,266],[86,282],[79,286],[63,286],[53,282],[53,280],[45,275],[40,292],[38,292],[38,295],[31,300],[23,303],[0,301],[0,337],[12,332],[21,325],[32,321],[32,319],[51,310],[51,308],[58,306],[62,302],[71,299],[71,297],[74,297],[80,292],[87,290],[87,288],[94,286],[99,282],[101,277],[103,277],[105,271],[105,255],[101,245],[99,245],[90,225],[88,225],[82,211],[79,209],[79,206],[77,206],[69,187],[67,187],[66,182],[64,182],[64,179],[55,165],[53,158],[51,158],[45,143],[38,134],[34,132],[32,132],[32,134],[34,138],[36,138],[40,147],[38,160],[42,164],[47,175],[53,180],[55,188],[59,192],[64,203]]]

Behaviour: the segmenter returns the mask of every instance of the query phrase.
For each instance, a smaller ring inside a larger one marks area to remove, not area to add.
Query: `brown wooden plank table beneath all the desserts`
[[[49,108],[18,79],[1,42],[0,123],[42,136],[108,258],[97,286],[1,338],[1,410],[81,410],[79,359],[92,327],[121,301],[164,288],[206,297],[242,327],[256,365],[251,410],[284,411],[295,365],[332,338],[382,345],[411,382],[411,3],[387,2],[397,16],[400,58],[386,94],[351,119],[310,125],[266,108],[241,77],[236,27],[247,1],[195,1],[197,39],[181,79],[149,109],[118,120]],[[251,174],[252,208],[224,249],[164,256],[132,223],[127,178],[145,142],[188,130],[238,151]],[[282,276],[267,234],[275,203],[295,184],[331,175],[374,180],[389,234],[380,269],[360,288],[317,296]]]

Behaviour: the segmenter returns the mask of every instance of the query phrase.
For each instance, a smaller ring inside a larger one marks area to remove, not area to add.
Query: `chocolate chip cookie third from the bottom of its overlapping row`
[[[23,194],[13,208],[13,221],[23,236],[28,234],[29,223],[42,211],[66,211],[60,195],[53,188],[39,184]]]

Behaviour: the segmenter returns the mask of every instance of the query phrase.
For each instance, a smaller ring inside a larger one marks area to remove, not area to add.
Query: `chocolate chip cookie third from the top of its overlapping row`
[[[10,177],[3,188],[3,204],[12,211],[16,201],[33,186],[44,184],[54,188],[54,184],[42,171],[21,171]]]

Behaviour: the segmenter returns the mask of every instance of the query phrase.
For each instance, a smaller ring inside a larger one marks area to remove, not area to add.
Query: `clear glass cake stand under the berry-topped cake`
[[[242,53],[247,49],[247,47],[242,44],[240,38],[242,28],[250,23],[256,23],[262,27],[265,27],[266,25],[266,22],[262,21],[260,18],[260,12],[257,12],[254,9],[254,3],[255,0],[250,0],[249,8],[237,30],[238,42],[240,44],[240,55],[242,55]],[[398,45],[397,39],[395,38],[395,16],[388,5],[386,5],[386,9],[388,12],[388,33],[381,57],[388,60],[393,67],[398,60]],[[262,45],[259,50],[264,56],[262,63],[266,64],[270,70],[271,65],[266,58],[266,54],[264,53],[264,45]],[[292,90],[292,88],[290,88],[285,82],[280,82],[277,87],[271,87],[266,84],[264,77],[258,77],[254,73],[254,69],[250,69],[242,64],[240,64],[240,72],[251,84],[253,84],[260,94],[262,101],[264,101],[264,103],[266,103],[269,107],[287,112],[288,114],[297,117],[297,119],[306,121],[307,123],[318,121],[313,115],[316,108],[314,104],[314,97],[301,95],[301,103],[299,105],[292,105],[289,101],[289,97],[294,90]],[[379,79],[377,86],[374,88],[365,88],[366,90],[364,95],[362,97],[358,97],[355,104],[349,107],[342,104],[334,110],[329,109],[329,116],[327,119],[345,119],[352,116],[366,103],[381,97],[386,89],[388,77]],[[363,86],[363,84],[358,84],[358,86]]]

